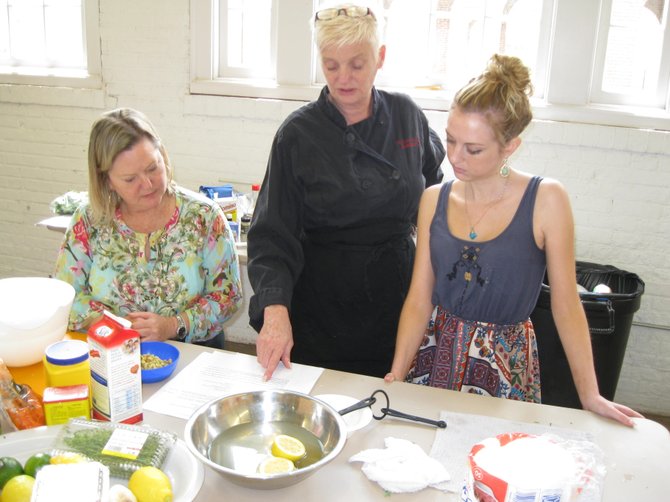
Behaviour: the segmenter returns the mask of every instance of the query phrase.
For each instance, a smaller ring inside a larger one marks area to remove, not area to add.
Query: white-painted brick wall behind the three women
[[[100,21],[101,92],[0,86],[0,277],[51,273],[60,236],[34,224],[56,196],[86,189],[88,131],[103,110],[147,113],[184,186],[248,189],[263,177],[276,128],[301,104],[189,96],[188,0],[100,0]],[[428,116],[444,134],[445,114]],[[670,415],[670,133],[535,121],[513,165],[568,188],[579,260],[646,282],[635,322],[666,328],[633,326],[617,399]],[[244,326],[233,333],[244,338]]]

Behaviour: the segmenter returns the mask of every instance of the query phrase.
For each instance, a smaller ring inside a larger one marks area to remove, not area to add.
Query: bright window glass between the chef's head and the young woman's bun
[[[479,74],[494,53],[521,58],[531,74],[537,66],[543,0],[386,0],[383,5],[377,13],[387,47],[380,86],[453,92]]]

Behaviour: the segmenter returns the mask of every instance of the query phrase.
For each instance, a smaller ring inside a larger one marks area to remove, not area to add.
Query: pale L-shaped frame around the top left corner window
[[[86,69],[0,66],[0,84],[101,89],[99,0],[82,0]]]

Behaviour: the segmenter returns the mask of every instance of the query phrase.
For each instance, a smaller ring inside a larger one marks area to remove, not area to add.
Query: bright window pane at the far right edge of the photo
[[[602,90],[654,93],[663,48],[667,0],[613,0]]]

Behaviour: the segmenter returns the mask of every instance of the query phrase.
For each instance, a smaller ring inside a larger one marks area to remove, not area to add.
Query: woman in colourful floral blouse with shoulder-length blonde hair
[[[129,108],[103,114],[88,148],[89,200],[75,212],[56,278],[77,292],[69,328],[103,309],[142,340],[223,346],[242,298],[233,235],[213,201],[178,187],[153,125]]]

